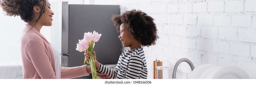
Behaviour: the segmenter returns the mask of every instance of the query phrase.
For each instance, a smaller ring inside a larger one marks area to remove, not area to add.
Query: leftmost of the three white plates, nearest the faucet
[[[215,65],[213,64],[203,64],[195,68],[190,74],[188,79],[198,79],[205,70],[208,68],[214,67]]]

